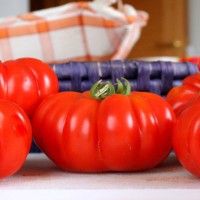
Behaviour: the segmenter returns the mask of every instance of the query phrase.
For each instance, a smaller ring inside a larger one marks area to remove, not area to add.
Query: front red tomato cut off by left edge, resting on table
[[[17,104],[0,100],[0,178],[16,173],[32,142],[31,122]]]

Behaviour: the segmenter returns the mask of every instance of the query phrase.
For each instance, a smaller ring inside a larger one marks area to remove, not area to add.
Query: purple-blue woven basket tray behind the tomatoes
[[[107,61],[69,62],[52,66],[58,76],[60,91],[89,90],[93,83],[102,79],[112,82],[124,77],[131,83],[132,90],[150,91],[165,96],[182,80],[198,72],[196,64],[174,62]],[[40,152],[33,142],[30,152]]]

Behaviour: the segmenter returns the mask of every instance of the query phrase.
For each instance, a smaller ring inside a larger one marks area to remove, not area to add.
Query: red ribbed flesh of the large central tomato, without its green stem
[[[58,166],[74,172],[146,170],[171,150],[175,114],[160,96],[134,92],[103,101],[62,92],[36,109],[36,143]]]

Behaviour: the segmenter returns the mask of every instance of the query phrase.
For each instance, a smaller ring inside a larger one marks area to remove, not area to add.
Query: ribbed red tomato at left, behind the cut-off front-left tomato
[[[34,58],[0,62],[0,98],[20,105],[32,116],[42,99],[58,92],[58,79],[47,64]]]

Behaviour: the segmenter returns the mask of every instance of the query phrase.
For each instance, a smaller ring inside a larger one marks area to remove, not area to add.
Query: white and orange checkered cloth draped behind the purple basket
[[[125,59],[148,14],[130,5],[115,9],[114,2],[74,2],[0,18],[0,60],[35,57],[55,64]]]

